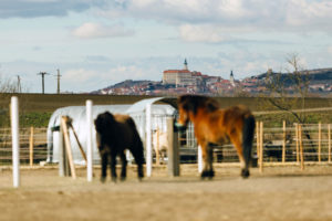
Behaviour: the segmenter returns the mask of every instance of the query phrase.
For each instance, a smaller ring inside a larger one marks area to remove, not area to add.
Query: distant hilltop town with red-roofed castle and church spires
[[[305,74],[304,74],[305,73]],[[230,71],[229,78],[209,76],[197,71],[189,71],[188,62],[185,60],[181,70],[165,70],[160,82],[126,80],[118,84],[93,92],[93,94],[115,95],[178,95],[178,94],[204,94],[212,96],[255,96],[268,93],[267,77],[278,74],[284,82],[284,88],[292,93],[292,81],[288,80],[289,74],[273,73],[268,70],[266,73],[236,80]],[[308,82],[308,91],[312,94],[328,95],[332,92],[332,69],[303,71],[303,81]]]

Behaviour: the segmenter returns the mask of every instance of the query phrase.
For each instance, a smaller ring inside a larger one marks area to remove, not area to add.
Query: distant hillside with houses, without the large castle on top
[[[197,76],[191,76],[197,77]],[[209,96],[234,96],[239,93],[239,88],[247,95],[257,96],[259,93],[264,92],[269,81],[278,81],[289,87],[299,81],[299,76],[292,73],[277,73],[267,72],[259,75],[247,77],[242,81],[237,80],[222,80],[221,77],[199,75],[195,84],[177,85],[162,84],[160,82],[153,81],[133,81],[126,80],[124,82],[110,85],[105,88],[92,92],[92,94],[117,94],[117,95],[178,95],[178,94],[204,94]],[[308,70],[301,72],[301,82],[309,83],[309,92],[317,95],[326,96],[332,92],[332,69]],[[234,82],[232,82],[234,81]],[[259,87],[259,88],[258,88]],[[242,93],[242,94],[243,94]]]

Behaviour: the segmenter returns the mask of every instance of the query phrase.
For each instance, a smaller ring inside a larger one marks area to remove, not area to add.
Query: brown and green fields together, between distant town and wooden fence
[[[10,97],[15,95],[20,101],[22,126],[46,126],[51,114],[60,107],[84,106],[86,99],[92,99],[95,105],[134,104],[152,96],[133,95],[90,95],[90,94],[1,94],[0,96],[0,126],[9,126],[8,109]],[[276,109],[268,106],[259,97],[216,97],[222,107],[237,104],[247,105],[253,112]],[[169,97],[168,102],[176,105],[176,97]],[[332,107],[332,98],[307,98],[305,108]],[[295,108],[301,108],[300,106]],[[280,125],[282,119],[294,120],[289,114],[257,116],[259,120],[271,122],[271,125]],[[310,122],[332,122],[332,112],[319,112],[310,114]]]

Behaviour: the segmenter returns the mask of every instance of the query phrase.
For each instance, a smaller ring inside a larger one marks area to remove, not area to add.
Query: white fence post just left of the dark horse
[[[92,101],[86,101],[86,125],[87,125],[87,146],[86,146],[86,179],[89,182],[93,179],[93,150],[92,150]]]

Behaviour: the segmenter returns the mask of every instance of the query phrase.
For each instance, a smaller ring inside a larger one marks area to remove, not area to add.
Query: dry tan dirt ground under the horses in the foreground
[[[214,180],[201,181],[196,166],[167,177],[165,167],[152,178],[125,182],[87,182],[61,178],[56,169],[21,170],[21,187],[12,188],[11,170],[0,169],[0,220],[332,220],[332,166],[270,167],[249,179],[239,168],[216,167]]]

